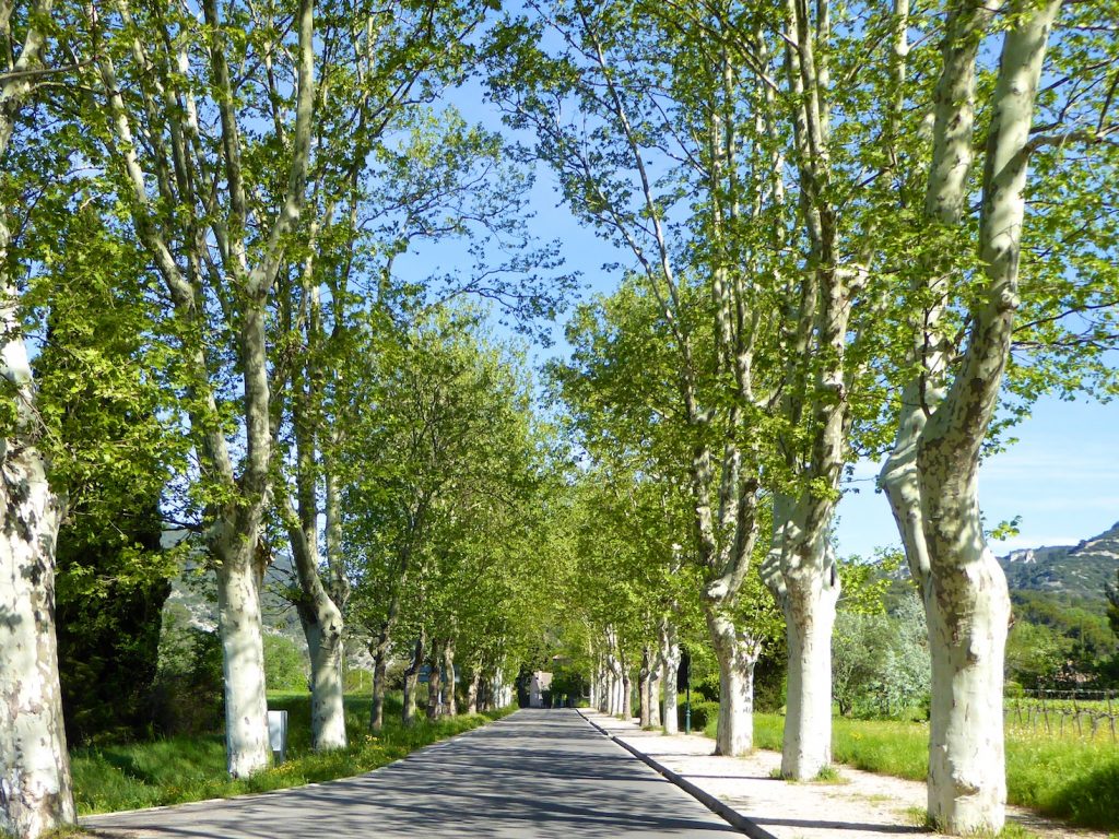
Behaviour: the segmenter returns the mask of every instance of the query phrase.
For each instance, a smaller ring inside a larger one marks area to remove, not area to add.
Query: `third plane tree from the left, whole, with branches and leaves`
[[[285,442],[292,443],[284,450],[293,453],[293,486],[280,484],[276,505],[302,590],[297,607],[311,651],[317,748],[345,745],[341,639],[349,588],[336,460],[348,416],[346,356],[358,350],[354,332],[378,317],[374,311],[388,304],[386,298],[402,294],[392,268],[410,246],[468,237],[471,217],[486,219],[479,226],[490,229],[508,224],[500,211],[480,211],[506,181],[499,166],[489,181],[477,177],[493,160],[495,138],[453,112],[440,120],[429,107],[444,85],[461,82],[471,54],[467,40],[486,10],[471,2],[421,4],[385,21],[363,7],[358,35],[346,27],[322,34],[330,69],[321,98],[330,107],[316,121],[312,206],[304,214],[311,216],[309,246],[293,253],[299,258],[278,287],[276,345],[293,358],[290,398],[274,424],[276,433],[290,427]],[[510,189],[504,206],[518,200]]]

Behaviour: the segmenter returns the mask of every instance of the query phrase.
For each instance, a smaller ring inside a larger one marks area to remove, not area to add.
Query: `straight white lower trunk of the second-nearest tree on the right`
[[[831,629],[839,586],[786,578],[789,675],[781,773],[808,781],[831,763]]]

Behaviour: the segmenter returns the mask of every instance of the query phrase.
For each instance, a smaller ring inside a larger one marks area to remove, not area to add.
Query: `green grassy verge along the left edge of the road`
[[[413,728],[404,728],[399,724],[397,700],[395,705],[386,703],[385,730],[378,737],[370,737],[366,734],[369,699],[347,697],[350,746],[316,754],[310,744],[310,705],[305,694],[269,696],[271,709],[288,711],[288,761],[245,780],[232,781],[226,775],[225,741],[219,734],[75,750],[70,763],[78,813],[228,798],[356,775],[513,710],[463,715],[435,723],[421,720]]]

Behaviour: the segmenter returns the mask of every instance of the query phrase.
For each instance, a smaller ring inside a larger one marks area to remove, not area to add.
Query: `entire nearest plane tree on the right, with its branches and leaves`
[[[915,251],[913,262],[913,349],[881,482],[928,612],[929,812],[951,832],[998,830],[1005,818],[1002,719],[1009,598],[987,546],[978,497],[979,460],[999,395],[1008,385],[1028,405],[1045,388],[1082,387],[1092,357],[1113,333],[1107,323],[1113,317],[1108,312],[1113,312],[1115,275],[1082,267],[1100,245],[1068,262],[1045,258],[1064,251],[1070,236],[1102,233],[1097,243],[1113,241],[1107,232],[1111,223],[1104,220],[1113,219],[1113,211],[1096,210],[1101,196],[1104,206],[1113,197],[1106,188],[1101,194],[1102,185],[1094,180],[1098,172],[1115,171],[1107,143],[1115,128],[1108,115],[1113,83],[1085,77],[1084,69],[1113,63],[1115,49],[1072,35],[1084,25],[1081,12],[1099,11],[1070,7],[1070,34],[1056,39],[1060,60],[1054,67],[1064,81],[1041,89],[1060,2],[950,3],[942,25],[932,159],[918,226],[928,245]],[[999,64],[988,70],[982,47],[996,32],[1003,37]],[[1089,55],[1106,60],[1093,65]],[[1034,125],[1040,109],[1052,117],[1045,128]],[[977,150],[979,115],[988,124],[986,142]],[[1078,155],[1064,154],[1079,143],[1092,150],[1084,169]],[[1040,154],[1052,144],[1060,149],[1054,155]],[[981,167],[975,166],[977,154]],[[1033,189],[1027,182],[1031,158],[1046,176]],[[1096,195],[1068,205],[1075,207],[1070,213],[1045,197],[1051,189],[1079,194],[1083,187]],[[975,194],[978,218],[971,209]],[[1026,224],[1032,194],[1035,234]],[[1032,237],[1035,253],[1028,247]],[[1027,276],[1029,283],[1023,281]],[[1019,309],[1029,313],[1025,322]],[[1036,352],[1017,370],[1010,355],[1016,345]],[[1078,348],[1084,365],[1068,356],[1054,362],[1053,353],[1068,353],[1070,347]]]

